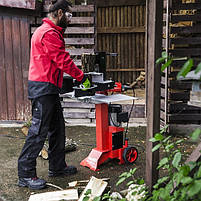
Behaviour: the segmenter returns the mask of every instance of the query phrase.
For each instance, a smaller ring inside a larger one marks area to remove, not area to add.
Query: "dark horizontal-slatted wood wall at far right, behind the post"
[[[201,109],[187,104],[191,83],[176,80],[176,75],[184,62],[194,59],[194,66],[201,62],[201,1],[173,0],[170,8],[169,53],[182,58],[174,61],[168,69],[168,80],[161,81],[161,121],[168,124],[200,124]],[[165,15],[164,15],[165,17]],[[164,33],[164,44],[166,35]],[[165,47],[164,47],[165,48]],[[168,87],[167,102],[165,86]],[[167,112],[165,112],[167,104]]]

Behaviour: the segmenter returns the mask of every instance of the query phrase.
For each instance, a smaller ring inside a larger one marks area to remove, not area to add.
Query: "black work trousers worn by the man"
[[[32,124],[18,159],[19,177],[36,177],[36,158],[48,137],[49,170],[58,171],[65,163],[65,124],[59,95],[32,100]]]

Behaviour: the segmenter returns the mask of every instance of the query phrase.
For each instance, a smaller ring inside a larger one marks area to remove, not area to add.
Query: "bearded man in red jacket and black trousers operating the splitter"
[[[65,162],[65,124],[59,92],[63,73],[89,87],[90,82],[65,51],[63,33],[72,14],[67,0],[52,0],[48,18],[34,32],[28,78],[28,98],[32,101],[32,124],[18,159],[18,185],[31,189],[46,186],[36,174],[36,158],[49,141],[49,176],[71,175],[76,167]]]

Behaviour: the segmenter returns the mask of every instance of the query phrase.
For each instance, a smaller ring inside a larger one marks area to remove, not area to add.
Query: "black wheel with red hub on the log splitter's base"
[[[123,159],[125,163],[132,164],[138,158],[138,151],[135,147],[127,147],[123,152]]]

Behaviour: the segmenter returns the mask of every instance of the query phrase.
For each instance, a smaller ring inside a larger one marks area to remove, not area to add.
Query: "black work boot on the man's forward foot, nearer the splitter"
[[[76,174],[76,173],[77,173],[77,168],[76,167],[74,167],[74,166],[66,166],[63,170],[59,170],[59,171],[49,170],[48,176],[49,177],[69,176],[69,175]]]

